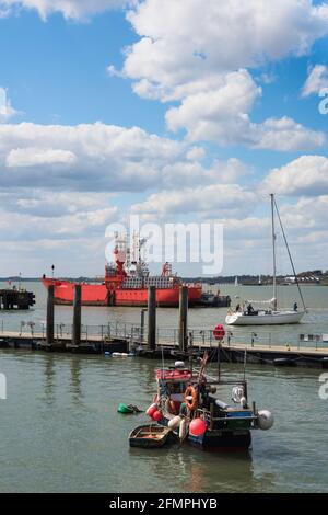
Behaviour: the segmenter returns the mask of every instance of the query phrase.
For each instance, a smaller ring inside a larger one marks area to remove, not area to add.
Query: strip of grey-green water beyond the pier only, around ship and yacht
[[[3,323],[7,330],[17,330],[21,321],[34,321],[42,323],[46,320],[46,291],[40,283],[23,284],[26,289],[36,295],[36,306],[27,312],[1,312],[0,330]],[[5,285],[0,283],[0,288]],[[219,287],[212,287],[216,291]],[[291,308],[295,300],[301,301],[295,286],[281,286],[279,289],[280,306]],[[272,297],[271,287],[267,286],[221,286],[222,294],[230,295],[233,305],[243,300],[266,300]],[[269,332],[273,343],[295,343],[298,341],[300,333],[328,333],[328,286],[305,286],[303,288],[306,306],[309,311],[304,317],[302,324],[281,325],[259,329],[256,328],[258,335],[268,337]],[[211,329],[216,323],[224,323],[226,308],[215,309],[190,309],[189,327],[190,329]],[[82,310],[82,322],[87,324],[101,325],[108,321],[126,321],[136,324],[140,323],[140,308],[93,308],[85,307]],[[72,323],[72,309],[67,306],[56,307],[56,323]],[[160,328],[177,328],[177,309],[162,308],[157,310],[157,325]],[[254,328],[234,328],[233,333],[237,339],[245,335],[245,341],[250,340],[250,333]]]

